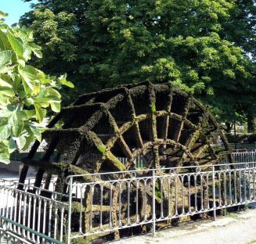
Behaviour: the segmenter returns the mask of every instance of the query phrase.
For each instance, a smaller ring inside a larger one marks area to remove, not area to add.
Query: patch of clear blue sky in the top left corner
[[[0,10],[9,14],[8,17],[5,17],[5,23],[9,25],[17,23],[23,13],[31,10],[30,5],[32,2],[23,2],[22,0],[0,0]]]

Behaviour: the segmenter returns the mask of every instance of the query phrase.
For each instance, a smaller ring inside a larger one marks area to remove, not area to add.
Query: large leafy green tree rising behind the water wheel
[[[222,120],[234,120],[254,99],[251,49],[241,45],[251,37],[252,16],[240,2],[38,0],[21,23],[48,54],[41,69],[67,69],[79,92],[171,81],[196,93]],[[233,34],[231,27],[242,22]]]

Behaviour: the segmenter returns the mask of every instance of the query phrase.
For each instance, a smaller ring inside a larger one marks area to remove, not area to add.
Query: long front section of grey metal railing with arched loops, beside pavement
[[[256,202],[256,163],[207,168],[181,167],[70,176],[69,239],[104,235],[124,228],[168,223],[175,218],[211,213]],[[76,192],[76,194],[74,194]],[[79,214],[71,215],[72,206]],[[76,229],[71,223],[78,222]]]

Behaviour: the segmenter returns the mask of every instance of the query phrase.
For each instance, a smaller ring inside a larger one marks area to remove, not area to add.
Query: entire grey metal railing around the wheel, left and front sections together
[[[54,192],[56,178],[48,190],[45,181],[34,187],[33,178],[1,180],[0,242],[70,244],[145,226],[154,233],[175,219],[215,217],[256,203],[256,152],[234,152],[233,158],[233,164],[149,170],[138,156],[133,171],[68,177],[68,195]]]

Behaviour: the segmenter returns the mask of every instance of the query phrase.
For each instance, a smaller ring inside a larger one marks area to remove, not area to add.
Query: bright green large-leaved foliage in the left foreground
[[[41,140],[41,124],[49,107],[58,113],[61,85],[73,87],[66,75],[51,77],[27,64],[41,58],[31,30],[8,27],[0,12],[0,162],[9,163],[10,153]]]

